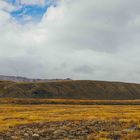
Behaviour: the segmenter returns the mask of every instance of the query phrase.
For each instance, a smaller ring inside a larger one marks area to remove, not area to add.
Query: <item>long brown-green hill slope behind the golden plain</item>
[[[73,80],[42,83],[0,81],[0,97],[133,100],[140,99],[140,85]]]

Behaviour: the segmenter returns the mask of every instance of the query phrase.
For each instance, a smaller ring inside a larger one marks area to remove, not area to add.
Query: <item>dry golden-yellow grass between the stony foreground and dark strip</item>
[[[0,105],[0,131],[9,126],[63,120],[114,120],[140,124],[137,105]]]

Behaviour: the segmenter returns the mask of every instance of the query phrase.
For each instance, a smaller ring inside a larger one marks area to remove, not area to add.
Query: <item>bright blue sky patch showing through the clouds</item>
[[[44,5],[22,4],[19,0],[7,0],[7,2],[15,6],[15,10],[10,13],[11,16],[23,24],[27,22],[39,22],[50,6],[57,6],[57,3],[54,0],[51,2],[46,0]]]

